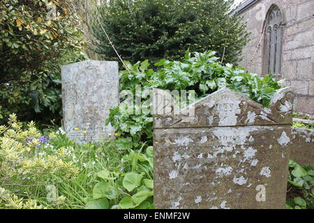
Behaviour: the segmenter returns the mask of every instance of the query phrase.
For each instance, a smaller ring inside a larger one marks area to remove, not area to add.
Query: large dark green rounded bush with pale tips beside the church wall
[[[232,15],[234,0],[112,0],[100,6],[100,20],[92,25],[96,52],[117,61],[117,54],[131,63],[179,59],[192,52],[214,50],[226,63],[241,60],[248,42],[241,17]],[[100,21],[101,25],[100,26]]]

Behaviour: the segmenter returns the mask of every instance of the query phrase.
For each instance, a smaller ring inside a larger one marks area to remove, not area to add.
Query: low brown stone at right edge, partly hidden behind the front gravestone
[[[290,158],[301,166],[314,167],[314,130],[292,128]]]

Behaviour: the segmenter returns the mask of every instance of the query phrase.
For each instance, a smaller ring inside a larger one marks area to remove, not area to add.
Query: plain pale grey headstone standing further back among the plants
[[[62,66],[63,128],[79,143],[114,134],[105,126],[119,105],[119,68],[113,61],[82,61]]]

